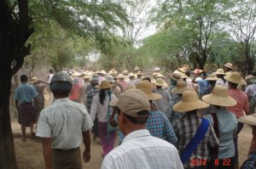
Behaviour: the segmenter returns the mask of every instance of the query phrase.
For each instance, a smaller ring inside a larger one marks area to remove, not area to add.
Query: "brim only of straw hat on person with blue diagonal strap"
[[[187,111],[200,110],[200,109],[204,109],[207,107],[209,107],[209,104],[207,104],[201,100],[197,100],[195,102],[189,102],[189,103],[184,103],[183,101],[180,101],[173,106],[173,110],[175,110],[177,112],[185,113]]]

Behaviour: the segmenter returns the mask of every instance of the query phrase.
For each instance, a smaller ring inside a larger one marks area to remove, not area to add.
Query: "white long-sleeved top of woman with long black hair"
[[[97,93],[93,99],[92,104],[90,108],[90,117],[91,120],[94,121],[96,118],[96,114],[98,117],[98,120],[101,122],[107,122],[108,121],[108,106],[109,106],[109,96],[108,92],[106,91],[106,97],[104,99],[103,104],[100,103],[100,93]],[[111,100],[115,99],[115,95],[111,93]],[[110,115],[112,114],[112,107],[109,107]]]

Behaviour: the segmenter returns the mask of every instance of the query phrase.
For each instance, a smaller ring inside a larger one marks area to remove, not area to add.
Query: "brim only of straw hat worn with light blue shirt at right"
[[[219,106],[233,106],[236,105],[236,99],[227,97],[218,97],[214,94],[207,94],[202,97],[202,100],[207,102],[207,104],[219,105]]]

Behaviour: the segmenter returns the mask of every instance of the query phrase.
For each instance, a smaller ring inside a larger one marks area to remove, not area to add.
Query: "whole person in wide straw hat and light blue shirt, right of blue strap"
[[[236,105],[236,99],[228,95],[227,87],[216,85],[213,92],[203,96],[202,100],[214,107],[212,113],[206,115],[219,141],[218,149],[212,155],[212,166],[214,166],[214,162],[218,161],[218,168],[234,168],[235,145],[233,139],[236,135],[237,121],[236,115],[226,110],[225,107]],[[228,166],[225,164],[227,160],[229,161]]]

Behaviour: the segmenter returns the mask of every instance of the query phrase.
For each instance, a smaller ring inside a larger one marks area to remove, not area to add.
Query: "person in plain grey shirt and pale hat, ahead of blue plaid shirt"
[[[156,104],[158,110],[160,110],[160,112],[166,115],[168,104],[171,100],[171,94],[167,90],[162,88],[163,86],[165,86],[165,81],[163,79],[161,78],[156,79],[156,81],[154,82],[154,85],[156,87],[154,90],[154,93],[160,94],[162,96],[161,99],[155,100],[154,103]]]

